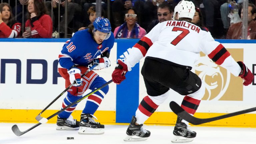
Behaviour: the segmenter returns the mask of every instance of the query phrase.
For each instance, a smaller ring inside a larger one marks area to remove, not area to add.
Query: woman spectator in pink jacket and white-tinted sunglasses
[[[125,22],[115,28],[114,36],[115,38],[142,38],[146,35],[145,29],[136,23],[138,17],[135,9],[128,8],[125,13]]]

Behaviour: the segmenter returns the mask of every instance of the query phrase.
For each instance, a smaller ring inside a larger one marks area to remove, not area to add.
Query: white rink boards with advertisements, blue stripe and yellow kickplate
[[[58,55],[67,39],[0,39],[0,122],[36,122],[37,116],[65,88],[57,71]],[[95,71],[106,81],[118,59],[124,60],[139,39],[116,39],[110,54],[111,67]],[[255,40],[218,40],[236,61],[244,61],[255,75]],[[189,46],[188,46],[189,48]],[[128,72],[120,85],[111,83],[108,94],[95,116],[102,123],[129,123],[139,102],[146,96],[140,69],[144,59]],[[152,66],[152,68],[154,68]],[[255,107],[255,83],[245,87],[242,79],[234,77],[200,53],[192,69],[206,85],[206,92],[195,114],[209,118],[224,113]],[[87,91],[86,93],[89,93]],[[42,116],[48,117],[61,108],[66,94],[59,98]],[[169,98],[146,121],[150,124],[175,124],[176,116],[169,108],[170,101],[181,103],[183,96],[171,90]],[[80,119],[85,101],[80,102],[73,116]],[[206,125],[254,127],[256,113],[236,116]],[[49,120],[56,122],[56,117]]]

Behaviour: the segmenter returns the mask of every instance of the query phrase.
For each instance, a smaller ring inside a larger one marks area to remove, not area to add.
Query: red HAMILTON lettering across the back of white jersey
[[[201,28],[198,27],[198,26],[195,26],[191,23],[188,23],[186,21],[168,21],[166,23],[166,26],[179,26],[179,27],[185,27],[185,28],[188,28],[188,29],[191,29],[191,30],[194,30],[196,31],[197,33],[200,32]]]

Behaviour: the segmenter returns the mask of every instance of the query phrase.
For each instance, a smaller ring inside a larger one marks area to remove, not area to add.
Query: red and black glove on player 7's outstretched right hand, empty
[[[245,66],[245,64],[242,61],[237,62],[239,66],[241,67],[241,72],[239,76],[244,80],[243,85],[248,86],[252,83],[254,76],[252,72]]]

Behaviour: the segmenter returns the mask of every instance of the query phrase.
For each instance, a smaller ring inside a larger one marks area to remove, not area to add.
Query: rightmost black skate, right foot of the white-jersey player
[[[185,123],[181,122],[181,120],[182,119],[180,117],[177,118],[177,122],[173,130],[173,143],[191,142],[194,140],[194,137],[196,137],[196,132],[190,130]]]

